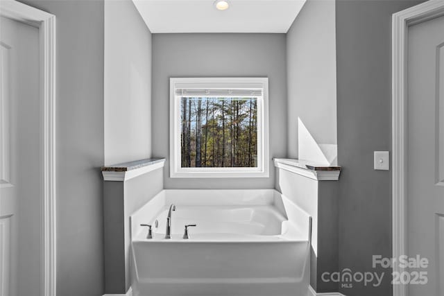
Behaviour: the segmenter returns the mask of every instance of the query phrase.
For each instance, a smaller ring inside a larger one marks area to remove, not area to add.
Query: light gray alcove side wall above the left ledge
[[[105,165],[151,157],[151,33],[133,1],[105,1]]]

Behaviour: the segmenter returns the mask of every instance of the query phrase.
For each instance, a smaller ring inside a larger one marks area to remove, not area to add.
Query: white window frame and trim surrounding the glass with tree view
[[[182,168],[180,98],[176,89],[261,89],[257,98],[257,167]],[[170,177],[269,177],[268,78],[170,78]]]

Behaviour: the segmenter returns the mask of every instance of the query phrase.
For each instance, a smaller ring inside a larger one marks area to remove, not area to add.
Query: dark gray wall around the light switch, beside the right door
[[[336,1],[339,269],[388,272],[379,288],[354,283],[345,295],[391,295],[391,172],[373,170],[373,151],[391,150],[391,15],[417,1]]]

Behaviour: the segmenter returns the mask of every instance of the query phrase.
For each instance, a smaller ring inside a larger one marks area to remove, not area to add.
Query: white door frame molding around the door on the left
[[[42,296],[56,296],[56,16],[2,0],[0,15],[35,26],[40,35],[40,165],[42,168]]]

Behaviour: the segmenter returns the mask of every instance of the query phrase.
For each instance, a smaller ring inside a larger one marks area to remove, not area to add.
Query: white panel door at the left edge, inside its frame
[[[39,31],[0,19],[0,296],[40,295]]]

